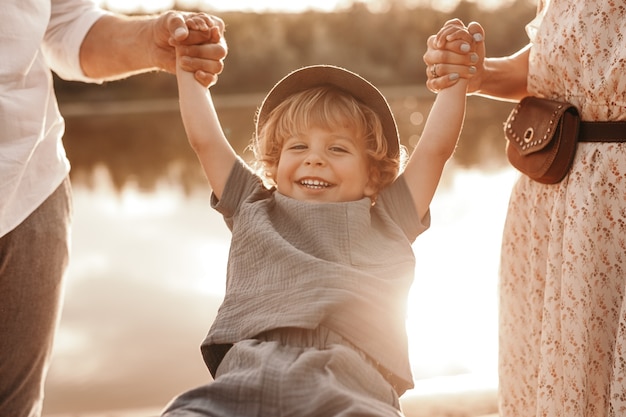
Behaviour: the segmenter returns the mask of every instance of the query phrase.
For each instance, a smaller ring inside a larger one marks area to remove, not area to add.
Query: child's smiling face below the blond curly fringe
[[[372,197],[365,140],[347,127],[311,127],[287,138],[271,170],[277,190],[311,202],[346,202]]]

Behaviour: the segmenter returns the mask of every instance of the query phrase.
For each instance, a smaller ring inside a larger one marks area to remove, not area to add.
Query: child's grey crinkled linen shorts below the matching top
[[[183,416],[402,416],[398,396],[362,353],[325,328],[279,329],[236,343],[215,380],[175,398]]]

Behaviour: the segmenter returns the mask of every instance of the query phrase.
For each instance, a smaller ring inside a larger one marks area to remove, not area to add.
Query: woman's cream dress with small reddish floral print
[[[545,1],[527,32],[532,94],[626,120],[626,0]],[[626,143],[519,179],[500,273],[500,416],[626,416]]]

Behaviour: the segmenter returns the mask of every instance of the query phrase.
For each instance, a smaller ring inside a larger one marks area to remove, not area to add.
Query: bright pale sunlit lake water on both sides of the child
[[[450,165],[414,244],[407,329],[414,395],[495,391],[497,269],[510,168]],[[46,412],[159,408],[208,381],[199,344],[223,296],[230,234],[209,190],[74,190],[73,255]],[[407,414],[408,415],[408,414]]]

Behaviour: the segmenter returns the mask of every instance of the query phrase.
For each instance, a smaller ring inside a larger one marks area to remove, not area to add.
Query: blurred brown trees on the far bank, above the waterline
[[[422,56],[428,36],[458,17],[479,21],[487,34],[487,54],[502,56],[527,42],[524,25],[535,14],[534,0],[518,0],[495,10],[461,1],[451,13],[406,7],[388,0],[385,12],[364,3],[324,13],[214,13],[226,22],[229,53],[216,94],[267,91],[288,72],[311,64],[334,64],[355,71],[377,86],[424,85]],[[182,7],[178,7],[182,9]],[[111,57],[115,59],[115,57]],[[61,100],[176,96],[174,77],[145,74],[107,88],[56,80]]]

